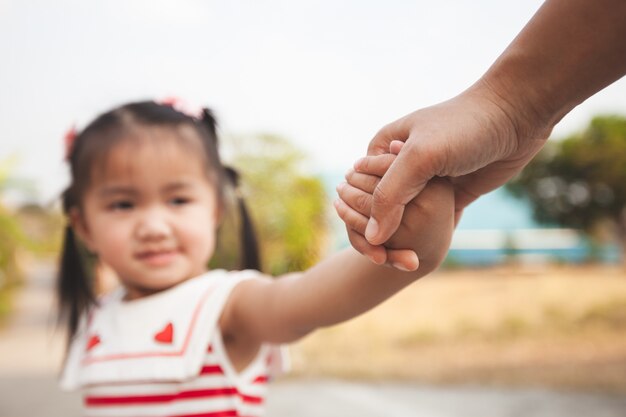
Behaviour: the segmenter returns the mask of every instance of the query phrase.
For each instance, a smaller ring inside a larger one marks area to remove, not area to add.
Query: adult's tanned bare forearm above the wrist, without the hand
[[[626,1],[548,0],[477,83],[533,139],[626,74]]]

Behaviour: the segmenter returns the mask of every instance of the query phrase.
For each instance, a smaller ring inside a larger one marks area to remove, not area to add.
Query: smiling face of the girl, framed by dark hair
[[[72,216],[74,229],[117,273],[129,299],[203,273],[215,245],[217,194],[202,159],[176,140],[150,143],[114,148],[104,170],[94,169],[82,212]]]

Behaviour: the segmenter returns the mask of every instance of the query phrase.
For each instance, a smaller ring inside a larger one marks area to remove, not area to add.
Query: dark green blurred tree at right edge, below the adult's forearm
[[[595,238],[609,230],[626,263],[626,118],[596,117],[583,132],[550,141],[507,189],[529,198],[539,222]]]

